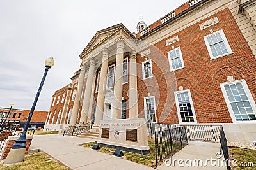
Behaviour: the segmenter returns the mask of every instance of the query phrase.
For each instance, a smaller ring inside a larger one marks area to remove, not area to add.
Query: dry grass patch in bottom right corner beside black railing
[[[229,148],[229,155],[232,169],[256,169],[256,150]],[[232,166],[234,159],[237,159],[237,166]]]

